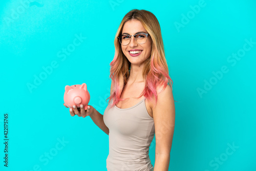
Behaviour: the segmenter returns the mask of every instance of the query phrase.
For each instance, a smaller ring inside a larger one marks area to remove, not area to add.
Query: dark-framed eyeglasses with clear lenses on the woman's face
[[[144,44],[147,40],[147,36],[150,35],[148,33],[138,33],[135,35],[121,35],[119,37],[117,37],[119,39],[119,42],[121,45],[126,46],[128,44],[130,44],[131,41],[131,37],[134,36],[135,37],[135,41],[138,44]]]

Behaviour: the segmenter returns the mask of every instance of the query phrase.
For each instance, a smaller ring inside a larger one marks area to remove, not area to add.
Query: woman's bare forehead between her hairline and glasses
[[[146,29],[142,26],[139,20],[132,19],[125,22],[125,24],[123,25],[122,34],[129,33],[130,35],[134,35],[135,33],[140,31],[146,32]]]

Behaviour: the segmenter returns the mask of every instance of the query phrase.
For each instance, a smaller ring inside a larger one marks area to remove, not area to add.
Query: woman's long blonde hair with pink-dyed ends
[[[163,86],[163,89],[165,89],[167,84],[172,88],[173,84],[172,79],[169,77],[168,66],[165,59],[160,25],[156,16],[150,11],[133,9],[123,17],[117,30],[116,37],[121,35],[125,22],[132,19],[139,20],[152,38],[151,56],[145,60],[142,72],[146,83],[144,90],[139,97],[144,95],[146,98],[152,99],[152,95],[154,95],[156,97],[155,100],[157,101],[156,88],[158,86]],[[111,108],[117,104],[119,100],[124,100],[121,99],[120,96],[127,79],[129,78],[129,69],[131,67],[131,63],[123,54],[121,44],[116,37],[114,40],[115,56],[110,63],[110,78],[113,81],[113,92],[108,99],[110,99],[109,104],[113,99]]]

